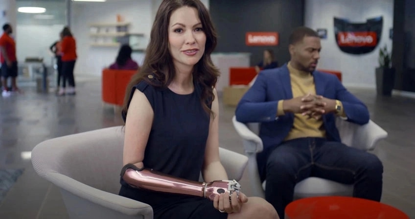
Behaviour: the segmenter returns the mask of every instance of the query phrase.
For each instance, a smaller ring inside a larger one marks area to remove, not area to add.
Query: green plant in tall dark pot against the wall
[[[379,49],[379,67],[376,68],[376,92],[378,95],[392,95],[395,83],[395,68],[392,67],[391,56],[386,45]]]

